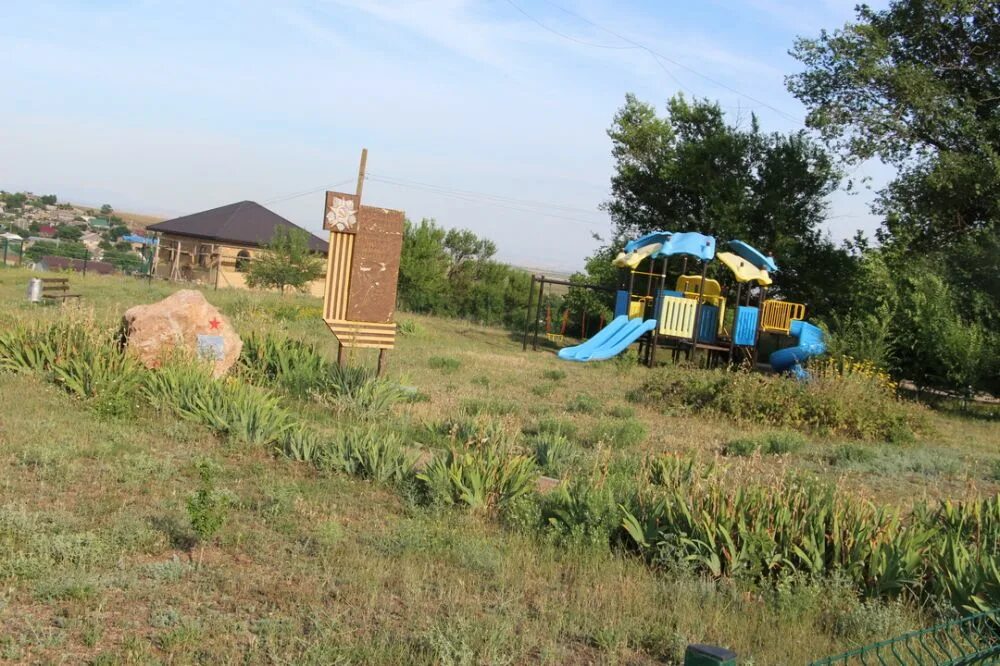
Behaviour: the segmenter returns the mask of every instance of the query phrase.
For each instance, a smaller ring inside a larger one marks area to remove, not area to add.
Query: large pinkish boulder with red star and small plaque
[[[210,361],[221,377],[236,363],[243,341],[200,291],[182,289],[162,301],[125,311],[125,343],[146,367],[155,368],[181,350]]]

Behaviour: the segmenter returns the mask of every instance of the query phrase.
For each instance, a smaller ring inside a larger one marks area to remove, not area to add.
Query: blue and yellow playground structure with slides
[[[717,252],[711,236],[670,231],[626,244],[614,260],[623,278],[627,276],[615,294],[614,319],[582,344],[560,349],[559,358],[601,361],[639,343],[640,359],[650,367],[658,349],[670,351],[674,360],[701,351],[708,365],[756,366],[761,342],[768,336],[778,346],[768,359],[771,368],[808,378],[803,363],[826,351],[822,330],[805,321],[804,304],[767,297],[771,273],[778,271],[773,257],[739,240],[726,246],[728,250]],[[668,264],[674,257],[682,265],[670,289]],[[719,281],[708,277],[715,260],[735,283],[731,303]],[[640,270],[644,264],[648,270]],[[689,264],[700,264],[700,271],[689,272]]]

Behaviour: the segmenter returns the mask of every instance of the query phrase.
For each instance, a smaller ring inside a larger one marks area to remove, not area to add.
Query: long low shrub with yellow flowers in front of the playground
[[[738,420],[852,439],[904,442],[921,413],[898,400],[877,377],[845,375],[797,382],[747,372],[650,373],[633,401],[710,411]]]

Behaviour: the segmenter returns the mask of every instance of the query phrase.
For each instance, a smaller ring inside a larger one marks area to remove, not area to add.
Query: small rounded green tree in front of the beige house
[[[323,276],[323,260],[309,249],[309,232],[278,227],[264,251],[250,262],[246,276],[251,288],[305,291]]]

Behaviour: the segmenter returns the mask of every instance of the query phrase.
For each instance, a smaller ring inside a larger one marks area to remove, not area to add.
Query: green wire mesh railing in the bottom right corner
[[[1000,609],[994,609],[820,659],[810,666],[998,663]]]

